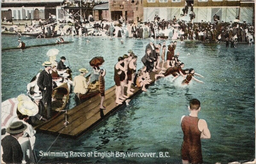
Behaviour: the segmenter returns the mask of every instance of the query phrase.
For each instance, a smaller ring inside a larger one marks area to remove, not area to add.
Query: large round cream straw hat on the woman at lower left
[[[34,116],[38,113],[38,106],[32,101],[20,101],[18,111],[23,115]]]

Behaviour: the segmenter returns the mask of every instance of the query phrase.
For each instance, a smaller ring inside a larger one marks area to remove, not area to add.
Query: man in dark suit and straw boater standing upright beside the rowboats
[[[52,69],[52,63],[46,61],[43,66],[45,68],[38,77],[37,85],[42,92],[43,103],[47,105],[47,119],[49,120],[52,116],[52,75],[49,72]]]

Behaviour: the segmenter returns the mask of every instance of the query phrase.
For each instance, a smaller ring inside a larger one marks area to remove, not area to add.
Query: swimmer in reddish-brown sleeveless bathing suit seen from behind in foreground
[[[183,131],[183,143],[181,147],[182,163],[203,163],[201,138],[211,138],[210,130],[203,119],[199,119],[201,110],[200,101],[192,99],[189,102],[188,116],[181,117],[181,129]]]

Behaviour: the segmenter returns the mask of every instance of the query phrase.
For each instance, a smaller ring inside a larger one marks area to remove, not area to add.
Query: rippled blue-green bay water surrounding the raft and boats
[[[115,38],[110,41],[101,37],[64,37],[74,43],[57,46],[28,48],[2,52],[2,101],[26,93],[26,85],[37,73],[50,48],[60,50],[57,58],[65,56],[66,65],[72,66],[73,77],[81,67],[90,69],[94,56],[103,56],[106,68],[106,88],[113,86],[114,64],[117,58],[132,49],[140,59],[145,53],[147,40]],[[85,40],[91,42],[86,43]],[[26,45],[52,43],[55,39],[33,39],[22,36]],[[160,41],[162,42],[162,41]],[[169,42],[167,41],[167,45]],[[2,36],[2,47],[18,46],[17,36]],[[90,157],[43,157],[40,163],[180,163],[183,133],[180,118],[188,114],[191,98],[201,101],[199,117],[207,121],[210,140],[202,140],[205,163],[227,163],[255,158],[255,85],[254,46],[241,44],[237,49],[226,49],[225,44],[178,43],[180,60],[185,68],[194,68],[205,78],[196,77],[203,84],[192,82],[181,86],[181,77],[157,81],[148,92],[133,98],[115,114],[102,121],[87,134],[77,138],[36,134],[35,151],[51,152],[169,152],[167,158],[90,158]],[[190,56],[186,54],[190,52]],[[67,106],[76,105],[71,94]]]

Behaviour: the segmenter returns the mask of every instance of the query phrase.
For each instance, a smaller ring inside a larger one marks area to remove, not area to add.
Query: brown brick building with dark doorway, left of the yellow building
[[[143,0],[110,0],[110,20],[118,20],[122,16],[127,21],[143,20]]]

